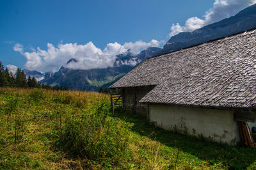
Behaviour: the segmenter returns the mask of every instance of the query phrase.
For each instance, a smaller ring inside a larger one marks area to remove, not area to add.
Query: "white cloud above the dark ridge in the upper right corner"
[[[215,0],[213,7],[205,12],[204,19],[191,17],[186,20],[185,26],[180,26],[179,23],[172,24],[169,36],[177,35],[180,32],[191,32],[208,24],[218,22],[236,15],[239,11],[255,3],[256,0]]]

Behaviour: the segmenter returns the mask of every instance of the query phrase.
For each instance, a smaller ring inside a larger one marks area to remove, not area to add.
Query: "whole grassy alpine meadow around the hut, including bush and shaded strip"
[[[255,148],[168,132],[111,114],[109,96],[0,89],[0,169],[256,169]]]

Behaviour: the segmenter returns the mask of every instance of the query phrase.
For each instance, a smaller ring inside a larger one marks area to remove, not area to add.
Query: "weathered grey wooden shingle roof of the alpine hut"
[[[111,88],[156,85],[140,102],[256,107],[256,29],[148,58]]]

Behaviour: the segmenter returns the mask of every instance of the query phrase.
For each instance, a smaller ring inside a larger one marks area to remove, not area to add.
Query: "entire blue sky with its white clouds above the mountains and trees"
[[[180,31],[230,17],[253,3],[2,0],[0,61],[42,72],[55,72],[68,58],[81,59],[81,69],[111,66],[115,55],[128,48],[136,54],[147,47],[162,47]]]

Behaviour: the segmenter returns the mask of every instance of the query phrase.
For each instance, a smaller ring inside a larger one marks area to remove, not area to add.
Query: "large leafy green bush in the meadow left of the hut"
[[[109,109],[101,102],[90,112],[67,118],[60,131],[58,146],[72,156],[104,162],[103,166],[127,162],[130,125],[107,118]]]

